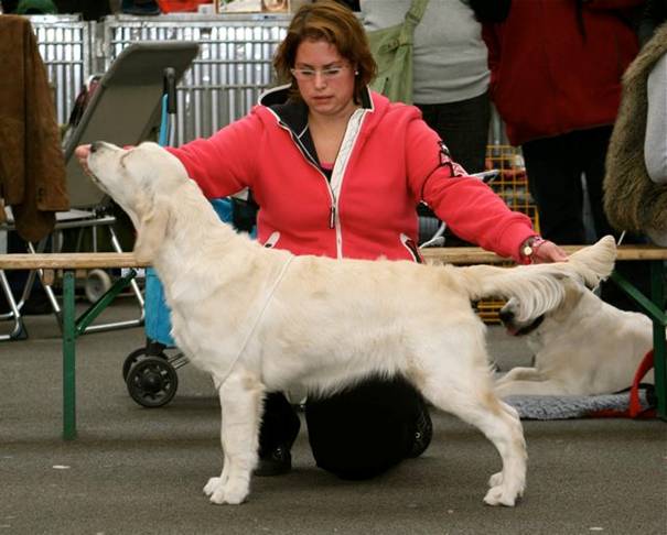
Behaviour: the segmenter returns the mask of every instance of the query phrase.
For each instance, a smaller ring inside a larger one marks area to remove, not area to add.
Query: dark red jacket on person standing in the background
[[[485,25],[491,96],[514,145],[613,124],[638,45],[628,8],[644,0],[513,0]]]

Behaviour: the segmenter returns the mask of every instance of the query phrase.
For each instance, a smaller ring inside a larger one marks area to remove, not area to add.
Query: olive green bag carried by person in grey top
[[[377,77],[370,88],[395,102],[412,103],[412,36],[429,0],[412,0],[402,23],[368,32]]]

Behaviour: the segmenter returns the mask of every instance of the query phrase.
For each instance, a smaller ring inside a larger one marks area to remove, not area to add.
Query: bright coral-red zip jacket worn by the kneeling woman
[[[271,90],[245,118],[170,151],[208,198],[245,187],[260,206],[258,240],[294,254],[415,259],[424,199],[461,238],[505,256],[536,232],[488,186],[465,176],[411,106],[378,94],[352,117],[327,181],[304,105]]]

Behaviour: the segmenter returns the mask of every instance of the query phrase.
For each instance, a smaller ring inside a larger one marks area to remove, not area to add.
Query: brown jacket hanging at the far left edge
[[[0,17],[0,200],[12,207],[21,238],[37,241],[69,203],[46,69],[23,17]]]

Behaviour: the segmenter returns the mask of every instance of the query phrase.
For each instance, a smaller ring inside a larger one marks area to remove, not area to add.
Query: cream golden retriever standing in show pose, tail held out
[[[164,284],[180,349],[213,375],[224,463],[204,487],[212,502],[248,495],[266,391],[333,392],[400,373],[494,444],[503,467],[484,501],[515,504],[526,482],[521,424],[494,393],[471,299],[518,296],[520,317],[541,314],[563,298],[560,280],[596,284],[610,274],[612,239],[569,262],[509,270],[294,256],[220,222],[179,160],[154,143],[94,143],[88,166],[132,219],[135,255]]]

